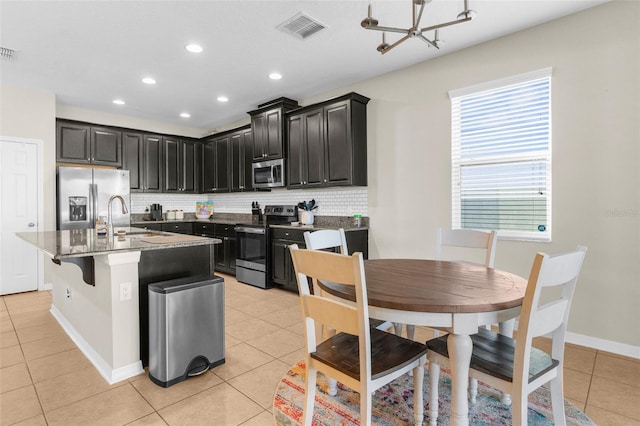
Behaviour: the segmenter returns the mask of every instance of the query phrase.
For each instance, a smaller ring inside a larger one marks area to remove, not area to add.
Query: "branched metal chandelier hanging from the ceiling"
[[[469,9],[468,0],[464,0],[464,10],[460,12],[457,18],[453,21],[443,22],[441,24],[431,25],[429,27],[420,28],[420,20],[422,19],[422,13],[424,12],[424,6],[427,3],[431,3],[431,0],[409,0],[411,2],[411,11],[412,11],[412,24],[411,28],[394,28],[394,27],[383,27],[378,25],[378,20],[375,19],[371,15],[371,2],[369,0],[369,8],[367,17],[362,20],[360,25],[365,30],[374,30],[374,31],[382,31],[382,43],[380,43],[376,50],[381,54],[385,54],[400,43],[408,40],[410,38],[418,38],[428,46],[433,46],[436,49],[440,49],[441,40],[439,38],[439,30],[440,28],[449,27],[451,25],[461,24],[463,22],[470,21],[473,16],[475,16],[476,12]],[[433,31],[433,38],[429,39],[425,36],[425,33]],[[398,41],[387,44],[385,33],[400,33],[404,34],[404,37],[400,38]]]

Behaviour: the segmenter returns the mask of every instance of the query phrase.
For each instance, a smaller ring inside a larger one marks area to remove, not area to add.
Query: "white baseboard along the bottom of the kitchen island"
[[[89,359],[91,364],[98,370],[100,375],[109,383],[110,385],[120,382],[122,380],[128,379],[129,377],[137,376],[144,372],[142,368],[142,361],[137,361],[132,364],[126,365],[124,367],[116,368],[115,370],[111,368],[108,362],[104,360],[92,347],[89,343],[78,333],[73,325],[64,317],[64,315],[56,308],[51,305],[51,315],[58,321],[60,326],[64,329],[67,335],[73,340],[73,342],[78,346],[78,349]]]

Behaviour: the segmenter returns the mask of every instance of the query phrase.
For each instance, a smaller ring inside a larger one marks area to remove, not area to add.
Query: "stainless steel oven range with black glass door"
[[[260,288],[271,288],[269,225],[298,221],[294,205],[265,206],[264,221],[236,225],[236,279]]]

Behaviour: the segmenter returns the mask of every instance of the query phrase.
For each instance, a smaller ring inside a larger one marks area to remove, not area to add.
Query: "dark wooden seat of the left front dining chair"
[[[395,334],[371,327],[371,378],[373,380],[399,370],[427,353],[427,347]],[[310,356],[344,374],[360,380],[359,339],[338,333],[320,343]]]

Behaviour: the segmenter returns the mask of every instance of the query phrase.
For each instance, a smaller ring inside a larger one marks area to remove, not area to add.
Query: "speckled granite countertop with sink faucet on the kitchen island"
[[[178,247],[219,244],[218,238],[197,237],[165,231],[147,231],[136,227],[124,229],[124,238],[99,237],[95,229],[18,232],[16,235],[54,259],[98,256],[127,251],[164,250]]]

